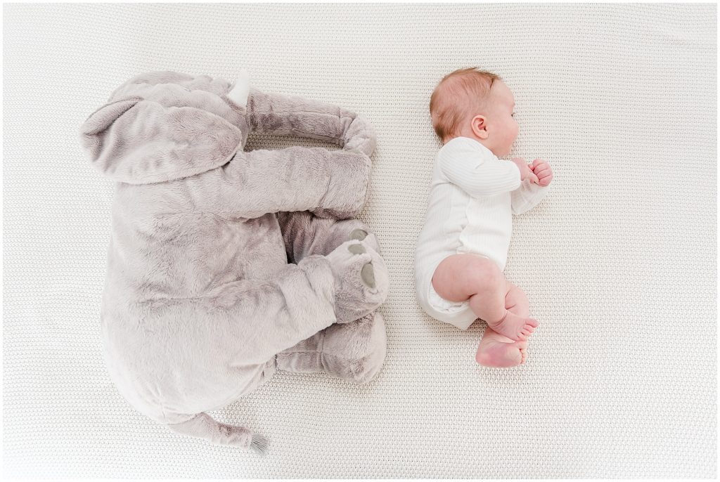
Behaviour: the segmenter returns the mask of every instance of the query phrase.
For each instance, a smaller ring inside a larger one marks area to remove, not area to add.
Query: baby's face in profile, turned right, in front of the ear
[[[492,83],[487,99],[487,139],[482,144],[501,158],[510,154],[518,137],[518,123],[513,119],[515,98],[503,81]]]

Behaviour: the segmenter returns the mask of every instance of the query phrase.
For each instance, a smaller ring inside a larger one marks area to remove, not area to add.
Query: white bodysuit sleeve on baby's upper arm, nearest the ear
[[[515,163],[498,159],[480,142],[467,137],[449,141],[438,157],[438,165],[451,183],[474,198],[515,191],[521,186]]]

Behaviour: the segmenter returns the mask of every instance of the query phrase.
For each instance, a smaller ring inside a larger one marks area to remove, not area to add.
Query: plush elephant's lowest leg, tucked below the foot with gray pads
[[[385,360],[382,315],[372,312],[354,322],[333,324],[278,353],[277,368],[297,373],[325,372],[356,383],[371,381]]]

